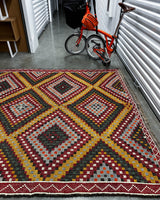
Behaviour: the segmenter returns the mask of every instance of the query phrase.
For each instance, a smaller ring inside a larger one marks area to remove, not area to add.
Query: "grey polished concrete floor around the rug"
[[[39,47],[34,54],[18,53],[14,58],[10,58],[8,53],[0,53],[0,69],[106,69],[100,61],[90,59],[86,52],[81,55],[69,55],[64,49],[65,39],[73,30],[67,27],[64,18],[57,14],[52,24],[46,27],[39,39]],[[129,85],[132,94],[139,102],[148,127],[152,130],[157,145],[160,144],[159,130],[160,123],[155,114],[149,107],[140,90],[135,87],[134,81],[126,71],[119,57],[114,54],[111,58],[110,69],[119,68]],[[74,196],[74,197],[0,197],[0,199],[33,199],[33,200],[141,200],[141,199],[160,199],[160,197],[131,197],[131,196]]]

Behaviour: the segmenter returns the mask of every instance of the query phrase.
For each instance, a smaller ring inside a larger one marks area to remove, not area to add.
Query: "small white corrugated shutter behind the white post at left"
[[[49,23],[48,0],[32,0],[36,32],[38,37]]]

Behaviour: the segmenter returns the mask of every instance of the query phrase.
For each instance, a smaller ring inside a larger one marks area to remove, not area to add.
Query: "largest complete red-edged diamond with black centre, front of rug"
[[[41,176],[45,178],[66,159],[73,156],[90,138],[88,133],[78,127],[63,112],[57,110],[26,130],[18,137],[18,140],[26,154],[40,170]],[[57,139],[56,143],[52,143],[54,139]]]

